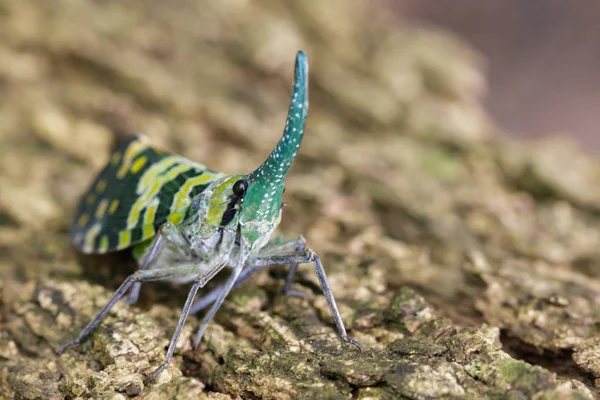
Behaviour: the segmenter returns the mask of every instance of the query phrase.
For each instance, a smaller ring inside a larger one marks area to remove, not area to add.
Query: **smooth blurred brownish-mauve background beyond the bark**
[[[448,29],[484,57],[484,104],[515,136],[569,135],[600,150],[600,3],[392,1],[416,23]]]

